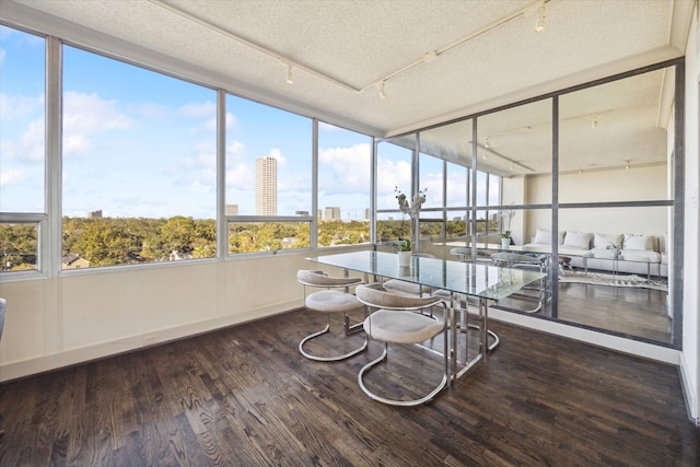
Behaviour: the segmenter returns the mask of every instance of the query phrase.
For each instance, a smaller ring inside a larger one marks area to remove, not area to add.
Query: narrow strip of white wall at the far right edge
[[[686,48],[686,222],[684,245],[684,306],[681,377],[691,416],[700,424],[700,215],[698,214],[698,179],[700,179],[700,31],[696,7]]]

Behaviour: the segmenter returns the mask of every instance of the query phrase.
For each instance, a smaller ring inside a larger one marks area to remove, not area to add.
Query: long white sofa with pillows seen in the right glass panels
[[[666,235],[606,234],[561,231],[558,238],[559,256],[571,257],[571,266],[590,270],[667,276],[668,255]],[[523,249],[544,252],[551,248],[551,232],[537,229],[532,242]],[[614,261],[615,255],[617,261]]]

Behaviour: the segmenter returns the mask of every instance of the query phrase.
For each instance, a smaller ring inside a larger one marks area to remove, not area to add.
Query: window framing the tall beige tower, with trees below
[[[312,120],[226,95],[229,253],[308,248]]]

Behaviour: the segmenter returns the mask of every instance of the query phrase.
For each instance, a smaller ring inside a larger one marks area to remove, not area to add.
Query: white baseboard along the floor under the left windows
[[[273,306],[257,308],[242,314],[215,317],[166,329],[150,330],[149,332],[100,342],[79,349],[70,349],[50,355],[40,355],[34,359],[7,363],[0,366],[0,383],[209,332],[284,313],[296,307],[299,307],[299,300],[278,303]]]

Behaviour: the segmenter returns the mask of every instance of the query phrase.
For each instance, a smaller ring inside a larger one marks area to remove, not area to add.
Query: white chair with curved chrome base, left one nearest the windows
[[[362,316],[365,316],[366,307],[355,295],[349,292],[349,288],[360,285],[364,282],[358,278],[339,278],[328,276],[324,271],[305,269],[301,269],[296,272],[296,279],[304,285],[304,306],[306,310],[326,315],[326,327],[317,332],[306,336],[301,342],[299,342],[299,351],[302,355],[310,360],[320,362],[336,362],[357,355],[366,349],[368,339],[365,336],[362,346],[340,355],[314,355],[304,350],[304,345],[306,342],[330,330],[331,315],[342,315],[346,336],[362,330],[360,324],[350,326],[349,314],[362,313]],[[306,288],[324,290],[318,290],[307,294]]]

